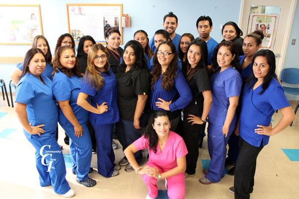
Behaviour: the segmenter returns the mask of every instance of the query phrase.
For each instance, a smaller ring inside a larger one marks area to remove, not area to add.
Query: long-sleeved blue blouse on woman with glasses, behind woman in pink
[[[177,76],[174,79],[174,87],[168,92],[161,86],[163,74],[161,74],[159,79],[154,83],[149,97],[151,110],[163,110],[155,105],[155,102],[159,101],[158,98],[166,101],[172,100],[169,105],[171,112],[182,109],[191,102],[192,94],[183,73],[180,70],[177,70],[176,73]]]

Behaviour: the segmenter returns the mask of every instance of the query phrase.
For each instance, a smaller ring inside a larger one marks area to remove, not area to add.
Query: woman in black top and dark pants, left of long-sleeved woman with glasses
[[[123,53],[123,61],[117,67],[118,105],[120,121],[116,123],[117,137],[125,150],[141,136],[141,128],[147,124],[150,74],[142,45],[135,40],[128,41]],[[142,163],[142,151],[135,153],[139,164]],[[126,166],[125,171],[134,171],[124,157],[120,166]]]

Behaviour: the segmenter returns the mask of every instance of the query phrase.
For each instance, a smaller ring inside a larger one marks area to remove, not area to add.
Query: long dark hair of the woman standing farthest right
[[[266,75],[266,77],[264,78],[264,82],[263,82],[263,86],[262,86],[263,90],[261,91],[261,93],[259,93],[259,95],[262,95],[267,90],[267,88],[269,87],[269,84],[270,84],[271,80],[275,77],[276,60],[275,60],[275,55],[271,50],[262,49],[262,50],[259,50],[253,56],[252,63],[251,63],[252,67],[254,65],[255,59],[259,56],[265,57],[267,59],[267,63],[270,66],[269,72]],[[253,85],[258,81],[258,79],[254,76],[253,68],[251,68],[251,70],[252,70],[252,76],[249,79],[249,81],[247,82],[249,88],[253,87]]]

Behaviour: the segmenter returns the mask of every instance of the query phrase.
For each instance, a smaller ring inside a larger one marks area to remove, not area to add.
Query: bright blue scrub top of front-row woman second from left
[[[80,77],[67,77],[61,71],[54,74],[52,83],[52,92],[57,101],[69,100],[69,104],[77,118],[78,122],[86,124],[88,120],[88,111],[77,105],[77,98],[81,88]],[[72,123],[65,117],[61,108],[59,107],[59,123],[63,126],[73,126]]]

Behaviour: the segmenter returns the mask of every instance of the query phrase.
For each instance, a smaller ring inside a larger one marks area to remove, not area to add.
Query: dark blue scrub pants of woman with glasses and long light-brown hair
[[[115,155],[112,149],[112,124],[97,125],[92,123],[97,141],[98,173],[108,178],[114,171]]]

